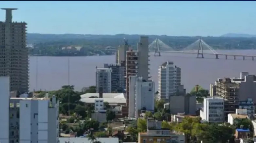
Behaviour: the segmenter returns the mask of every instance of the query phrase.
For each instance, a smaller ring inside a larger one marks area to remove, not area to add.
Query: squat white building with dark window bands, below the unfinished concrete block
[[[207,122],[224,122],[224,99],[221,97],[204,98],[200,117]]]

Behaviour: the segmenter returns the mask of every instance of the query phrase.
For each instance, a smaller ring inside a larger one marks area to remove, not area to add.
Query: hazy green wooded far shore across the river
[[[35,48],[29,49],[30,55],[35,56],[90,56],[111,55],[114,52],[106,50],[106,47],[116,49],[123,44],[123,38],[128,39],[128,44],[136,49],[140,35],[81,35],[81,34],[28,34],[28,44],[35,44]],[[156,37],[165,44],[181,50],[192,44],[199,37],[173,37],[149,35],[149,42]],[[231,37],[202,37],[213,49],[255,49],[256,38],[231,38]],[[69,48],[66,48],[69,47]],[[153,50],[153,49],[150,49]],[[170,50],[170,49],[166,49]]]

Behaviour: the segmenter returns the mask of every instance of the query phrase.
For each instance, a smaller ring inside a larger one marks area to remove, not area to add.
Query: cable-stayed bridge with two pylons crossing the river
[[[225,59],[228,59],[228,56],[231,56],[234,59],[236,59],[236,57],[243,57],[243,60],[245,60],[245,57],[250,57],[252,60],[254,60],[254,57],[256,57],[256,55],[218,53],[210,45],[205,43],[201,38],[185,47],[182,51],[175,51],[174,48],[166,45],[158,38],[156,38],[151,44],[149,44],[148,48],[149,52],[154,52],[154,56],[161,56],[161,53],[181,53],[196,54],[197,58],[204,58],[204,55],[215,55],[216,59],[219,59],[219,56],[225,56]]]

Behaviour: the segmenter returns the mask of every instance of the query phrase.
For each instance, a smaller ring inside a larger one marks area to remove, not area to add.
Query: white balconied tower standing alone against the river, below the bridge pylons
[[[169,99],[171,95],[184,93],[181,86],[181,69],[173,62],[164,62],[158,69],[158,92],[160,99]]]

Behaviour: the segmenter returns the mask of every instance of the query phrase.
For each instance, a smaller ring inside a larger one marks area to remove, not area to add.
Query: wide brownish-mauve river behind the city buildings
[[[207,52],[207,51],[206,51]],[[218,53],[256,55],[256,50],[220,50]],[[199,84],[203,88],[209,89],[209,84],[214,83],[218,78],[239,77],[240,72],[256,74],[256,58],[229,56],[219,56],[215,59],[214,55],[204,55],[205,58],[196,58],[196,54],[173,54],[161,53],[161,57],[155,57],[150,53],[150,76],[156,82],[158,79],[158,67],[165,61],[173,61],[181,68],[181,83],[187,92]],[[81,57],[50,57],[42,56],[29,58],[29,89],[33,90],[56,90],[62,85],[68,85],[68,59],[70,67],[70,85],[75,86],[75,90],[82,87],[95,85],[96,66],[103,67],[104,63],[114,63],[115,55],[111,56],[81,56]],[[37,69],[37,70],[36,70]],[[36,72],[38,71],[38,72]],[[37,78],[36,78],[37,77]],[[37,81],[37,82],[36,82]],[[37,83],[37,84],[36,84]]]

